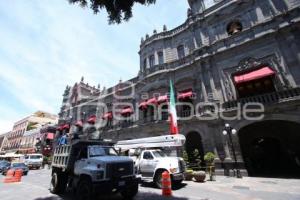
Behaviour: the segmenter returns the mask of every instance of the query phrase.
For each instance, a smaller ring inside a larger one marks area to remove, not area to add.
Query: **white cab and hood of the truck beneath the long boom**
[[[162,173],[168,171],[173,184],[183,181],[185,163],[182,158],[170,157],[161,149],[143,150],[135,162],[138,173],[142,177],[150,177],[158,188],[161,188]]]

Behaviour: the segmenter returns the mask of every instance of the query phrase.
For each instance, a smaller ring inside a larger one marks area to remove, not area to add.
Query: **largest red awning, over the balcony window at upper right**
[[[263,67],[258,70],[254,70],[252,72],[234,76],[234,83],[235,84],[244,83],[244,82],[264,78],[267,76],[272,76],[274,74],[275,72],[270,67]]]

